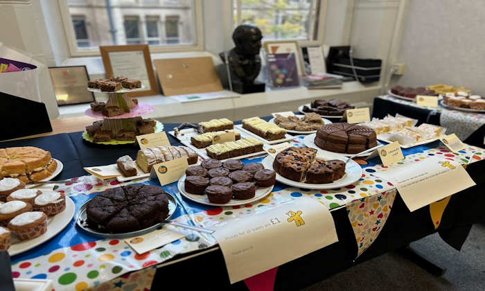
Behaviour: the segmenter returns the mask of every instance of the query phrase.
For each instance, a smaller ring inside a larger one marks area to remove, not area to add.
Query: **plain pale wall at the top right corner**
[[[398,60],[404,76],[393,84],[445,83],[485,95],[484,0],[411,0]]]

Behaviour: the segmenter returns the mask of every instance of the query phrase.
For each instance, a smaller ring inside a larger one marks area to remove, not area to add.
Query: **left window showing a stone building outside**
[[[199,0],[58,1],[72,55],[99,55],[98,46],[116,44],[203,48]]]

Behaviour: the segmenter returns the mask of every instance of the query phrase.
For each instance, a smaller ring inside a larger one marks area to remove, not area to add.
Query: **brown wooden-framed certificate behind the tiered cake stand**
[[[106,77],[127,77],[141,80],[145,90],[134,91],[129,96],[150,96],[159,94],[152,58],[148,44],[129,46],[100,46]]]

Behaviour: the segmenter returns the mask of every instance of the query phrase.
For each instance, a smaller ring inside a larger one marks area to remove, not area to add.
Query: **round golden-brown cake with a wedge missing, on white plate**
[[[326,184],[344,177],[343,161],[324,161],[316,155],[315,148],[287,148],[276,155],[273,168],[287,179],[308,184]]]

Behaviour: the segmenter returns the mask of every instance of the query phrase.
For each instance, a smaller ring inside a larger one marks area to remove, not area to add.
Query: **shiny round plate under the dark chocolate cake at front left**
[[[165,218],[165,220],[169,220],[173,213],[175,213],[175,210],[177,209],[177,200],[175,200],[175,197],[170,195],[169,193],[166,193],[168,197],[168,216]],[[89,201],[88,201],[89,202]],[[146,229],[140,229],[138,231],[130,231],[130,232],[125,232],[125,233],[104,233],[100,232],[97,229],[91,229],[87,226],[86,220],[87,220],[87,203],[82,204],[81,208],[78,210],[78,214],[76,214],[76,224],[78,224],[78,227],[82,229],[82,231],[85,231],[86,233],[89,233],[91,236],[96,236],[96,238],[132,238],[134,236],[141,236],[142,234],[149,233],[150,231],[154,231],[155,229],[158,229],[161,227],[164,222],[159,222],[156,224],[153,224],[151,227],[147,227]]]

